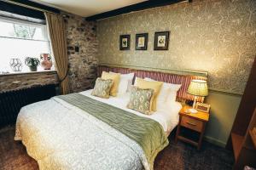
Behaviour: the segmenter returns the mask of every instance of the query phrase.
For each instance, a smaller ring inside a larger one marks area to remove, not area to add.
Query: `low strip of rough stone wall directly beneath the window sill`
[[[55,71],[0,75],[0,92],[53,83],[58,83]]]

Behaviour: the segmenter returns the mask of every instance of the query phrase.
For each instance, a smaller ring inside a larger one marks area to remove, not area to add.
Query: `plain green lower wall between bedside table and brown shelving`
[[[240,95],[210,91],[206,103],[211,105],[210,121],[205,138],[214,144],[225,146],[241,101]]]

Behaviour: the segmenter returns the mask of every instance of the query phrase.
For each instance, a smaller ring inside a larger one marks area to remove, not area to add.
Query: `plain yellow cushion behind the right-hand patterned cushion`
[[[154,89],[154,95],[151,98],[151,105],[150,105],[150,111],[156,111],[156,99],[158,97],[158,94],[160,93],[160,89],[162,88],[164,82],[149,82],[146,80],[143,80],[142,78],[136,78],[135,86],[138,88],[143,89]]]

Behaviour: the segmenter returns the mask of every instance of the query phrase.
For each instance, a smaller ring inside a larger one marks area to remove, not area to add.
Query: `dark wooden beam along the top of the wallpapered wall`
[[[136,3],[130,6],[126,6],[123,8],[118,8],[118,9],[114,9],[102,14],[96,14],[96,15],[92,15],[89,17],[86,17],[86,20],[100,20],[100,19],[104,19],[104,18],[108,18],[108,17],[112,17],[112,16],[116,16],[119,14],[127,14],[127,13],[131,13],[134,11],[139,11],[139,10],[143,10],[143,9],[147,9],[147,8],[155,8],[155,7],[160,7],[160,6],[165,6],[165,5],[170,5],[170,4],[174,4],[174,3],[182,3],[182,2],[186,2],[188,0],[149,0],[149,1],[145,1],[143,3]],[[189,0],[189,3],[191,3],[192,0]]]

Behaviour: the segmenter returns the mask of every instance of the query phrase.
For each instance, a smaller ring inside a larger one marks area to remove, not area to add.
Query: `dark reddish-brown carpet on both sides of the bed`
[[[38,170],[38,163],[26,153],[25,146],[14,140],[15,127],[0,129],[0,169]],[[178,142],[174,134],[170,144],[162,150],[154,161],[154,170],[229,170],[234,159],[229,150],[203,142],[201,150],[195,146]]]

